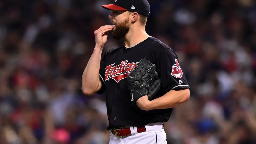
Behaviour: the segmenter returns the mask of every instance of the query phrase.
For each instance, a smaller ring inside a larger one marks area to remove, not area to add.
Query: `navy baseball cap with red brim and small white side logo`
[[[102,5],[108,10],[128,10],[148,17],[150,5],[147,0],[115,0],[113,4]]]

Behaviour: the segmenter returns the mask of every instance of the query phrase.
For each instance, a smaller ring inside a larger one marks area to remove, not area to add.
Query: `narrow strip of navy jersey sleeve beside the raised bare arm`
[[[106,67],[106,54],[104,57],[101,59],[100,62],[100,68],[99,68],[99,79],[101,82],[101,89],[97,92],[97,94],[103,94],[105,91],[105,67]]]

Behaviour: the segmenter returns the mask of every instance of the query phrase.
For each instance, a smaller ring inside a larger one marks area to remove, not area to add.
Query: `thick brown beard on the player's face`
[[[128,25],[129,19],[125,19],[120,24],[116,24],[115,30],[112,30],[112,36],[116,40],[122,39],[130,30]]]

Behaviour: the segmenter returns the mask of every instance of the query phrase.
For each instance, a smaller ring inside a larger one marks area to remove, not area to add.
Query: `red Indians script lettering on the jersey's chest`
[[[137,63],[127,63],[128,61],[122,61],[118,66],[111,64],[105,68],[105,81],[109,78],[114,79],[117,83],[126,78],[130,72],[134,69]]]

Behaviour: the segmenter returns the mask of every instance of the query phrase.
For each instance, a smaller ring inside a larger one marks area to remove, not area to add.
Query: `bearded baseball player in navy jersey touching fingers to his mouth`
[[[168,121],[172,108],[188,101],[190,95],[179,59],[172,48],[146,33],[150,12],[147,0],[115,0],[102,7],[112,10],[109,15],[112,25],[94,32],[95,47],[82,75],[82,91],[85,95],[105,91],[110,144],[167,143],[163,122]],[[109,32],[124,43],[101,58]],[[155,74],[151,76],[160,79],[160,88],[155,90],[150,84],[144,87],[141,83],[135,93],[128,88],[127,77],[143,58],[154,64]],[[150,100],[151,90],[144,94],[139,92],[147,87],[155,90]]]

